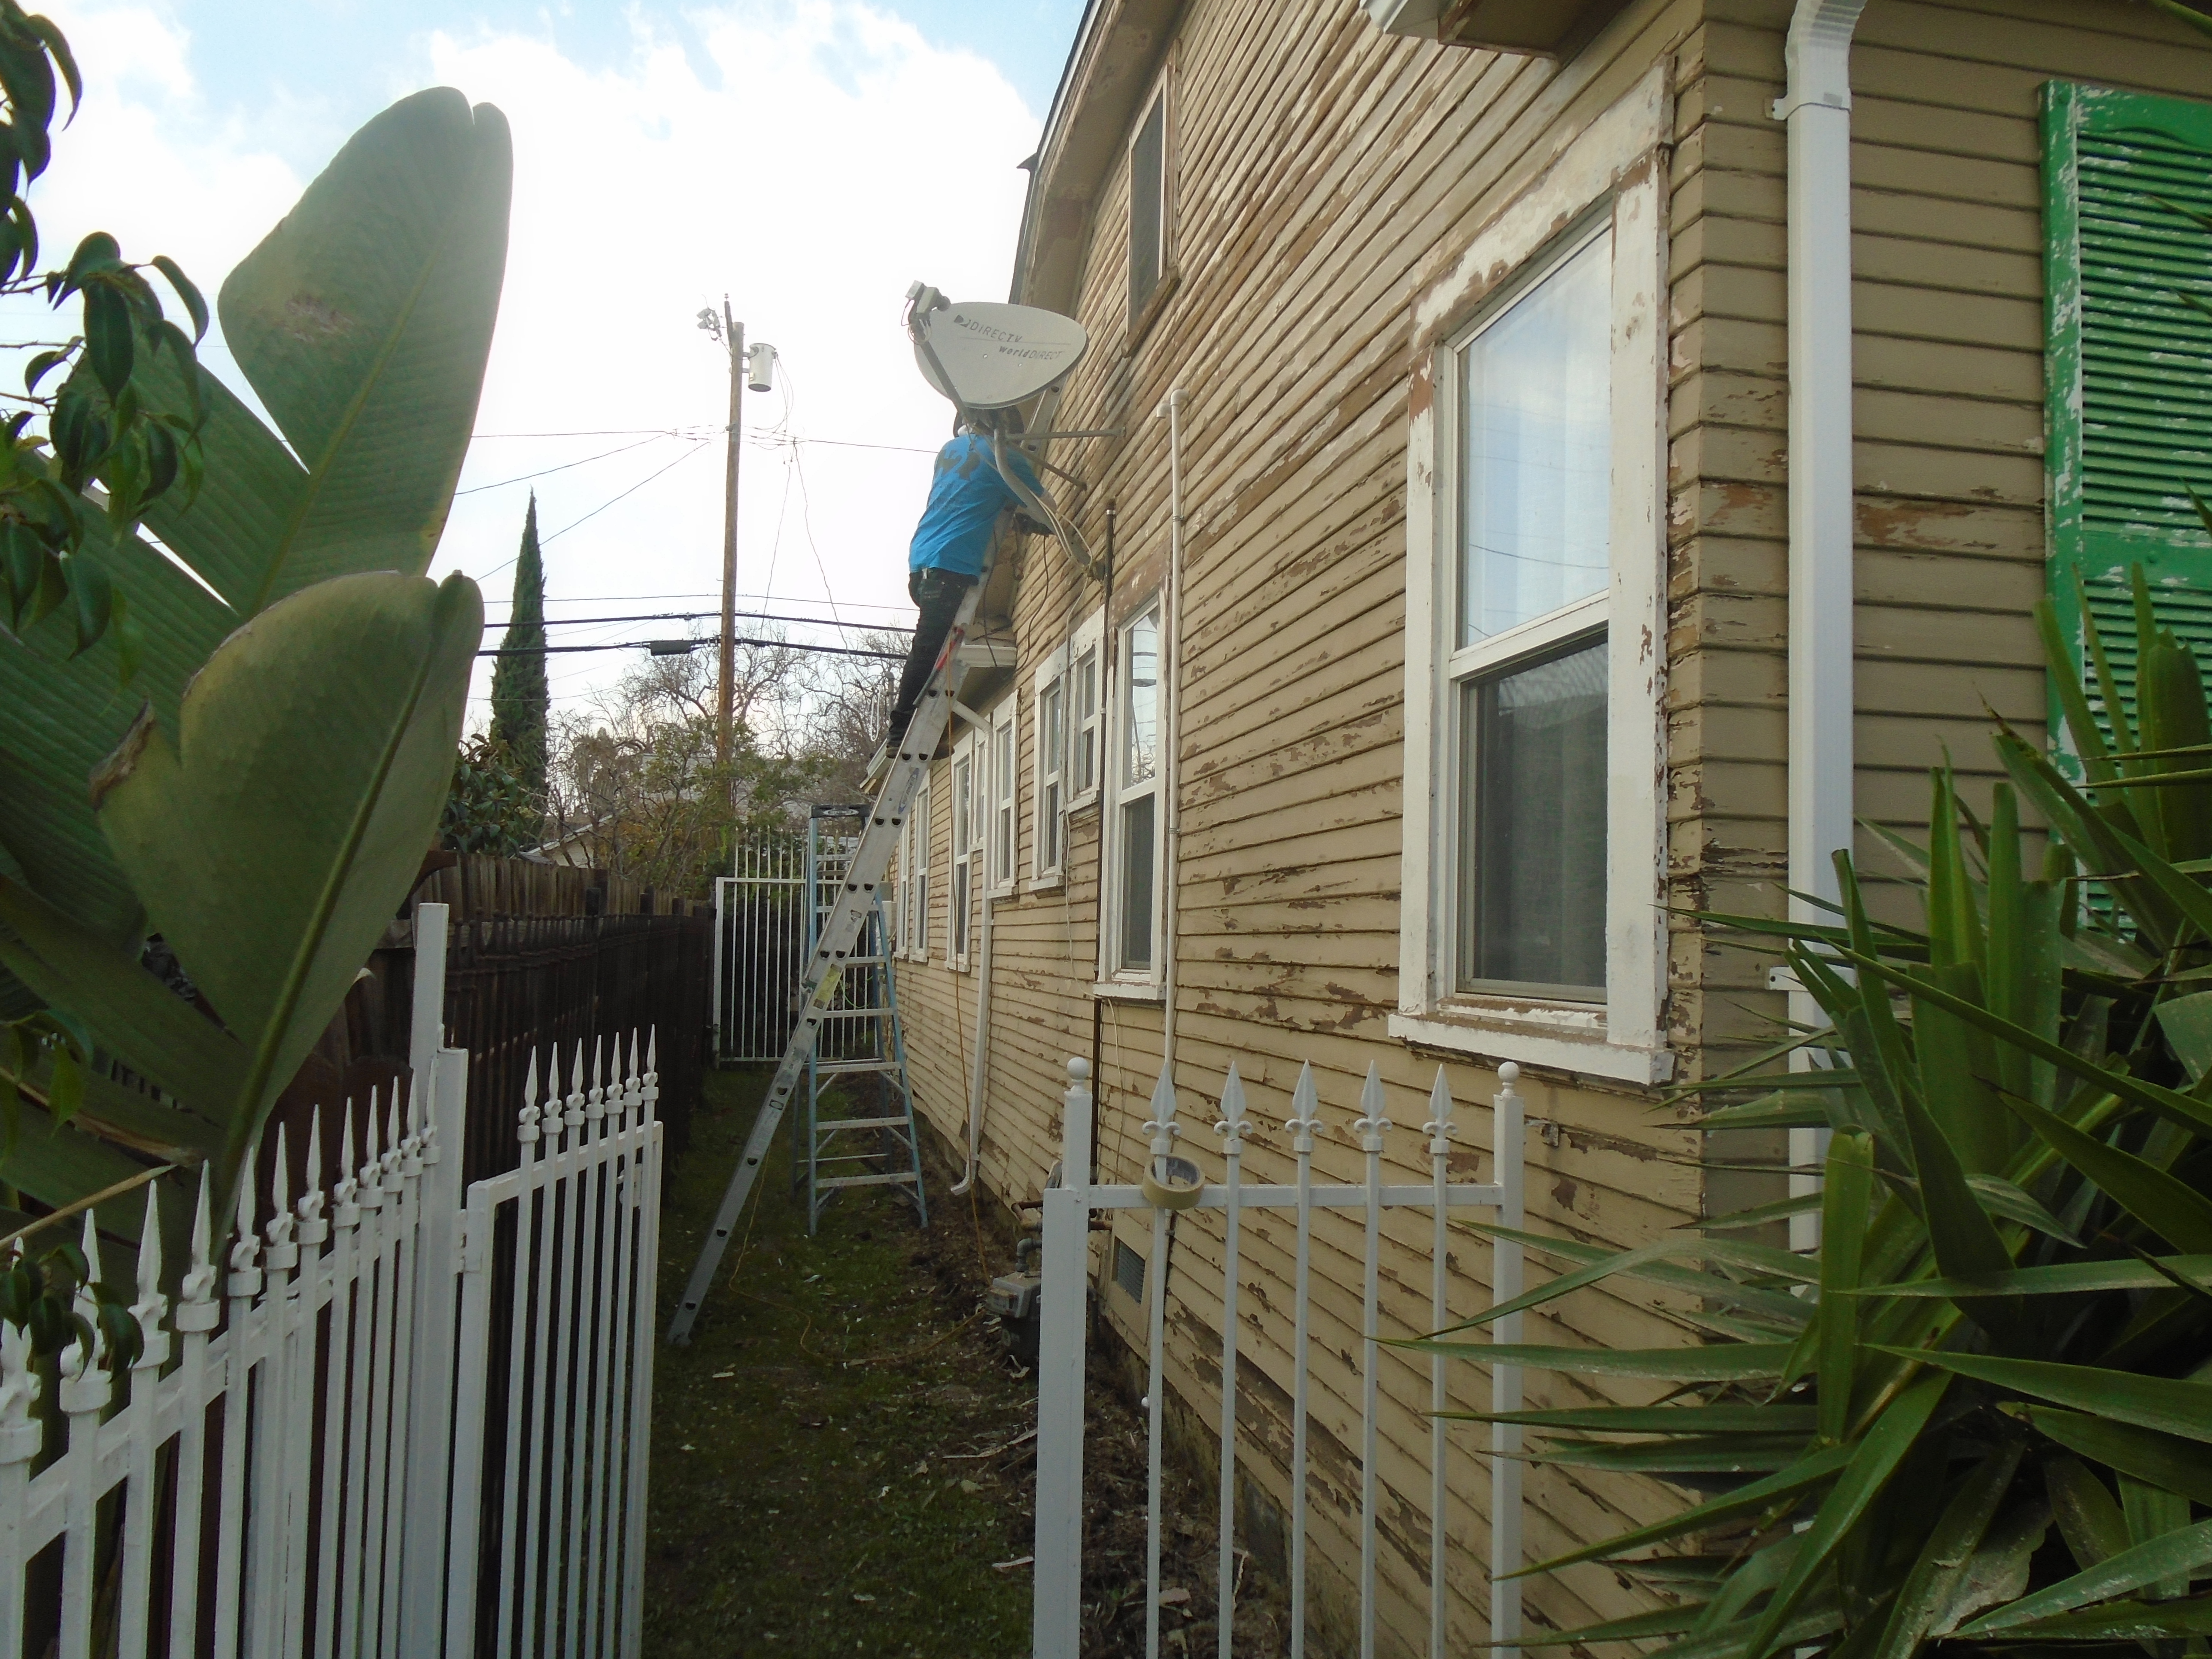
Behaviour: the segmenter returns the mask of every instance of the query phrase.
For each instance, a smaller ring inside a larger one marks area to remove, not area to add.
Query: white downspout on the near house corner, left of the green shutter
[[[1834,858],[1851,845],[1851,33],[1867,0],[1798,0],[1783,46],[1790,124],[1790,887],[1840,896]],[[1823,911],[1790,900],[1794,920]],[[1820,1022],[1805,991],[1790,1018]],[[1818,1130],[1790,1130],[1790,1161],[1820,1157]],[[1818,1188],[1792,1175],[1792,1194]],[[1812,1248],[1818,1217],[1792,1217]]]

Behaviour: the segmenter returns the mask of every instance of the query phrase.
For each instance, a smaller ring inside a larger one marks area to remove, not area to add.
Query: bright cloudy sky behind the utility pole
[[[529,491],[551,617],[712,611],[723,294],[776,345],[745,394],[739,608],[911,622],[905,551],[951,409],[900,330],[909,281],[1004,299],[1020,161],[1082,0],[46,0],[84,69],[31,204],[51,254],[93,228],[215,296],[376,111],[422,86],[515,142],[507,288],[431,575],[482,584],[498,644]],[[250,387],[219,338],[201,361]],[[765,595],[765,602],[763,602]],[[555,644],[712,633],[555,628]],[[739,624],[743,633],[754,624]],[[555,712],[639,653],[555,655]],[[484,717],[489,661],[473,686]]]

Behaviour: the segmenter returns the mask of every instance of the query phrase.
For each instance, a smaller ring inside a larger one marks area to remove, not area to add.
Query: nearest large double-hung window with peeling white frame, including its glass
[[[1394,1035],[1661,1082],[1663,75],[1440,263]],[[1590,199],[1586,179],[1615,179]],[[1553,226],[1571,223],[1564,234]],[[1506,272],[1502,279],[1495,272]],[[1449,321],[1460,316],[1458,327]]]

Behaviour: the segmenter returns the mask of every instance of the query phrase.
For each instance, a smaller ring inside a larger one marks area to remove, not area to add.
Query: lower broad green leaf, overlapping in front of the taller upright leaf
[[[451,781],[482,626],[465,577],[321,582],[215,653],[186,695],[175,745],[142,719],[100,781],[117,860],[243,1048],[226,1093],[188,1097],[223,1128],[219,1206],[414,883]],[[77,978],[49,978],[55,956],[11,964],[55,1002],[95,978],[104,1040],[159,1075],[177,1026],[150,1013],[150,975],[86,947]]]

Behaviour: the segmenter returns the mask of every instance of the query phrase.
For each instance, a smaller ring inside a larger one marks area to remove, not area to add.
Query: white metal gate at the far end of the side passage
[[[807,949],[807,841],[765,825],[714,878],[714,1060],[774,1062],[792,1042]]]

